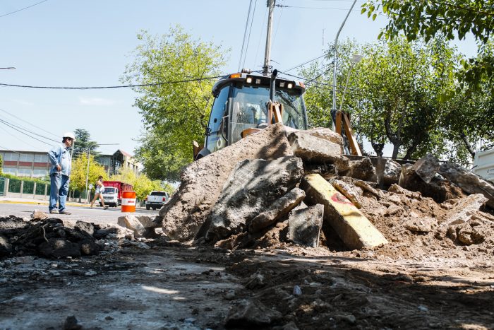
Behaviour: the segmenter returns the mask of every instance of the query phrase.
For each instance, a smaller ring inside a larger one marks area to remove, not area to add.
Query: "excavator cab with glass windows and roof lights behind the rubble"
[[[203,148],[194,146],[194,159],[203,158],[230,146],[243,137],[248,129],[263,129],[272,124],[268,118],[270,77],[246,71],[224,76],[215,83],[210,119]],[[307,129],[307,112],[303,102],[305,85],[299,81],[276,78],[275,100],[283,111],[282,122],[294,129]]]

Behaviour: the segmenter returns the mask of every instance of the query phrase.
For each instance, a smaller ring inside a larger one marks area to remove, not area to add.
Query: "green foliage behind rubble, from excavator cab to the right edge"
[[[350,59],[356,53],[364,57],[352,67]],[[470,93],[469,98],[466,92],[457,94],[454,76],[459,59],[456,49],[441,38],[427,45],[403,37],[364,46],[342,42],[338,107],[349,77],[342,110],[351,114],[357,139],[368,139],[376,154],[392,143],[393,157],[418,158],[433,152],[465,163],[470,155],[466,140],[494,141],[493,110],[488,107],[493,103],[488,93]],[[305,77],[318,77],[308,79],[313,87],[306,92],[308,117],[315,126],[327,126],[331,71],[330,64],[301,71]]]

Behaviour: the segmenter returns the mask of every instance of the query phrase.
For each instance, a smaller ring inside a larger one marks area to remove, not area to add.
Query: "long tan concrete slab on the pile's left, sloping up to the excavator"
[[[256,158],[272,160],[284,155],[293,152],[284,125],[275,124],[191,163],[181,174],[179,190],[159,210],[163,232],[171,240],[193,239],[215,206],[236,163]]]

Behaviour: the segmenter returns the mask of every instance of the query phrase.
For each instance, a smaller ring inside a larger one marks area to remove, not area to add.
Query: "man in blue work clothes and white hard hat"
[[[62,143],[54,146],[48,152],[52,170],[50,170],[50,190],[49,190],[49,213],[52,214],[71,214],[65,209],[65,201],[68,194],[68,182],[71,176],[71,153],[69,149],[76,137],[72,132],[67,132],[62,136]],[[58,209],[56,202],[59,202]]]

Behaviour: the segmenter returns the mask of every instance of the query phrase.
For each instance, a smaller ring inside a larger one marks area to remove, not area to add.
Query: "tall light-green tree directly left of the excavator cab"
[[[121,81],[145,86],[135,106],[143,114],[146,133],[135,156],[152,179],[178,179],[193,160],[192,141],[203,141],[210,106],[211,77],[219,75],[225,51],[212,42],[194,40],[180,26],[167,35],[138,35],[135,61]]]

